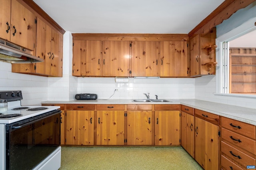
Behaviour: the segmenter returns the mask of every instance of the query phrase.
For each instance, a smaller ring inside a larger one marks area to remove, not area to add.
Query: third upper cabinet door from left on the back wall
[[[159,42],[132,41],[132,76],[160,76]]]

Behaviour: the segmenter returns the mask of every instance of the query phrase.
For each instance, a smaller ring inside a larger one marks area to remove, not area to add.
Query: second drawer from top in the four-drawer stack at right
[[[256,154],[256,141],[244,137],[227,129],[221,128],[221,137],[222,139],[236,145],[242,149],[247,150],[253,154]]]

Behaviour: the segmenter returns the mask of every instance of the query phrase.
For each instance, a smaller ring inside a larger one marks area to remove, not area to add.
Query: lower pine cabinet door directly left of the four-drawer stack
[[[219,127],[198,117],[195,118],[195,160],[207,170],[219,165]]]

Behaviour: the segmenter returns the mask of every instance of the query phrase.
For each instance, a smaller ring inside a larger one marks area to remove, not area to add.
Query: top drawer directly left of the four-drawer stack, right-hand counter
[[[214,125],[219,125],[219,115],[195,109],[195,116],[205,121],[208,121]]]

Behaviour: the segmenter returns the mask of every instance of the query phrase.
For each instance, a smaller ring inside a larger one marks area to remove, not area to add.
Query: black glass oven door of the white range
[[[60,113],[6,125],[6,170],[30,170],[60,145]]]

